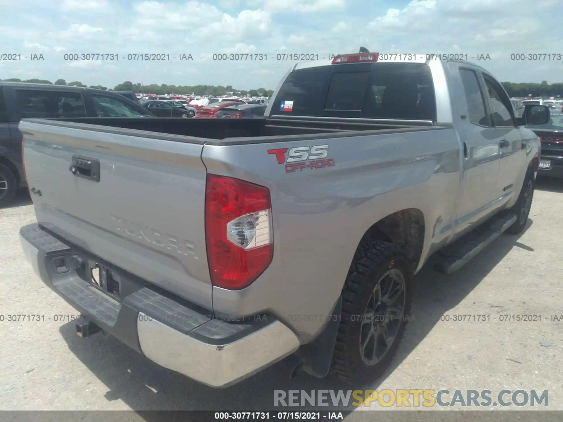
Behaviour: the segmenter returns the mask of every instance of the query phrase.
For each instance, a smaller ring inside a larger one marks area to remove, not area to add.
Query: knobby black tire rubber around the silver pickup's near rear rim
[[[390,268],[400,270],[405,281],[403,317],[386,354],[374,365],[367,365],[360,353],[361,321],[358,321],[358,316],[364,315],[372,291]],[[412,277],[412,265],[402,248],[379,240],[361,241],[342,289],[341,321],[334,345],[330,375],[356,384],[374,380],[385,372],[399,348],[408,323],[412,302]]]

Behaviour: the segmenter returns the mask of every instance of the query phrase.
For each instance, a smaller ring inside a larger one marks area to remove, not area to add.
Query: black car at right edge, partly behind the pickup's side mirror
[[[526,127],[539,136],[542,145],[538,175],[563,177],[563,114],[552,111],[548,123]]]

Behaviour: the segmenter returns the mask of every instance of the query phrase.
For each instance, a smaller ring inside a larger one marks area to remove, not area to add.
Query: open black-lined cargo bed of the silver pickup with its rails
[[[440,128],[427,120],[375,121],[318,117],[288,119],[282,116],[263,119],[60,118],[24,119],[23,122],[41,122],[60,127],[149,138],[155,137],[154,132],[158,132],[159,139],[200,145],[266,143],[305,138],[313,140],[334,137],[336,133],[339,136],[354,136],[372,134],[374,131],[400,133],[418,131],[421,127],[425,130]]]

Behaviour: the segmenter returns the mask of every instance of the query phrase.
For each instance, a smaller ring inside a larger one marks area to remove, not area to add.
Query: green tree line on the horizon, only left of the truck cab
[[[0,79],[2,80],[2,79]],[[26,79],[21,80],[17,78],[12,79],[3,79],[2,82],[26,82],[26,83],[46,83],[51,84],[53,83],[50,80],[45,79]],[[83,88],[95,88],[95,89],[102,89],[104,91],[133,91],[135,93],[151,93],[156,95],[166,95],[166,94],[177,94],[177,95],[197,95],[197,96],[205,96],[205,95],[228,95],[228,93],[234,93],[236,95],[249,95],[251,97],[271,97],[274,93],[271,89],[266,88],[258,88],[258,89],[250,89],[245,91],[244,89],[234,89],[233,86],[227,85],[226,87],[223,86],[213,86],[213,85],[196,85],[196,86],[176,86],[176,85],[157,85],[157,84],[150,84],[150,85],[142,85],[140,83],[132,83],[129,80],[126,80],[123,83],[116,85],[114,88],[108,88],[101,85],[90,85],[87,86],[82,82],[78,82],[75,80],[74,82],[66,83],[64,79],[57,79],[55,80],[54,85],[65,85],[70,87],[83,87]]]

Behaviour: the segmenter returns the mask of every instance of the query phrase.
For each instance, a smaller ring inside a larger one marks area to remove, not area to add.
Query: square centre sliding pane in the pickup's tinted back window
[[[369,72],[333,73],[324,109],[360,111],[368,79]]]

